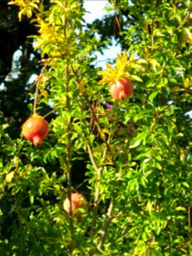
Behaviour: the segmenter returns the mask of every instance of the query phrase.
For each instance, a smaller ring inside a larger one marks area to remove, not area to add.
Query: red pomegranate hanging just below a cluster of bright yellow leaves
[[[115,101],[125,100],[127,97],[131,96],[132,91],[133,86],[131,81],[125,78],[120,78],[117,82],[112,84],[109,89]]]

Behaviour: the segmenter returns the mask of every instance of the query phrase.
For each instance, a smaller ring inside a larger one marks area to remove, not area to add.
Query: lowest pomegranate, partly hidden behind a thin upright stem
[[[76,193],[72,193],[71,194],[71,200],[72,200],[72,212],[73,214],[77,217],[78,221],[81,222],[82,221],[82,215],[80,212],[78,212],[79,208],[84,208],[85,210],[87,210],[87,200],[84,197],[84,195],[76,192]],[[70,212],[70,201],[68,200],[68,198],[65,199],[64,203],[63,203],[63,209],[69,213]]]

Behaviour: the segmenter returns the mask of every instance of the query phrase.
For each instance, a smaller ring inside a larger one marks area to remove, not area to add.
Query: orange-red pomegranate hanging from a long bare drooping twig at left
[[[33,115],[22,125],[22,135],[34,146],[40,145],[48,136],[49,124],[39,115]]]

